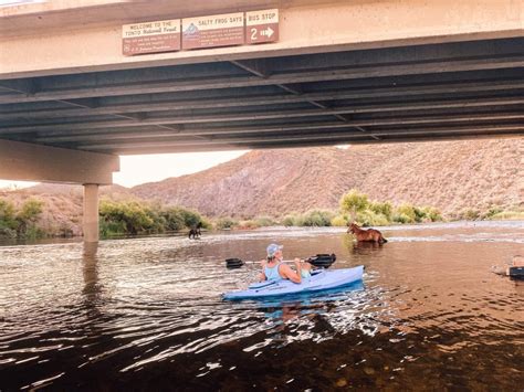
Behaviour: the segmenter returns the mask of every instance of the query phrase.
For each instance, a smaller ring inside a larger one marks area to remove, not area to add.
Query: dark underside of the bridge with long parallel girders
[[[0,139],[104,153],[524,135],[524,38],[0,81]]]

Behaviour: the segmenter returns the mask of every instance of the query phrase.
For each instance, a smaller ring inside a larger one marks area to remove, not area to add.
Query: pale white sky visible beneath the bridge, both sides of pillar
[[[113,174],[113,182],[129,188],[169,177],[191,174],[235,159],[245,152],[248,150],[124,156],[120,157],[120,171]],[[25,188],[35,183],[0,180],[0,188]]]

